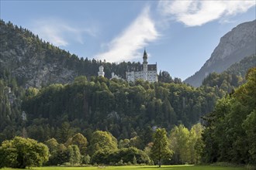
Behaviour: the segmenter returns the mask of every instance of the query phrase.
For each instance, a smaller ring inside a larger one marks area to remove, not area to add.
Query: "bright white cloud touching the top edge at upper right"
[[[244,1],[160,1],[158,10],[162,15],[183,22],[185,26],[202,26],[216,19],[223,19],[256,5],[254,0]],[[224,19],[225,20],[225,19]]]

